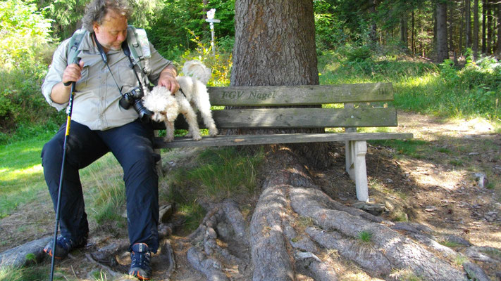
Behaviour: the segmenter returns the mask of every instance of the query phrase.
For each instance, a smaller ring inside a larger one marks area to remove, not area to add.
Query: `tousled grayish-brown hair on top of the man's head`
[[[109,11],[114,11],[127,19],[130,18],[130,6],[127,0],[92,0],[85,7],[82,27],[92,32],[92,24],[97,22],[98,25],[101,25]]]

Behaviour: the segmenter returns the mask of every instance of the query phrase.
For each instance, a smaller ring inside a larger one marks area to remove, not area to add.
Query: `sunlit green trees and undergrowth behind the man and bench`
[[[0,1],[0,143],[54,133],[39,91],[56,46],[80,28],[86,0]],[[199,58],[229,84],[235,0],[131,0],[130,24],[166,58]],[[216,55],[206,11],[216,8]],[[315,0],[321,84],[391,81],[396,106],[500,122],[501,3]]]

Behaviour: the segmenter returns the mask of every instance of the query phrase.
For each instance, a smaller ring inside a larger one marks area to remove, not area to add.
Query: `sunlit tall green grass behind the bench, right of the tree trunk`
[[[501,122],[501,72],[495,60],[469,63],[462,70],[397,58],[350,61],[342,48],[318,58],[321,84],[391,82],[393,105],[426,115]]]

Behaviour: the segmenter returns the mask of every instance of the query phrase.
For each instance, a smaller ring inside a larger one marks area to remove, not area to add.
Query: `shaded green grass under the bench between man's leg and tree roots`
[[[236,148],[206,149],[194,159],[194,166],[180,166],[169,172],[170,188],[160,190],[162,201],[175,202],[185,219],[184,229],[194,230],[205,216],[200,198],[221,202],[227,197],[254,197],[257,167],[264,159],[256,153]]]

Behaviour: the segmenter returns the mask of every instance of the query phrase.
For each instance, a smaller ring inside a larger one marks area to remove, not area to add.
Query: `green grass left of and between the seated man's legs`
[[[36,200],[51,202],[40,157],[44,143],[50,138],[47,133],[1,146],[0,218]],[[111,154],[80,171],[87,212],[97,223],[113,220],[118,227],[126,226],[125,218],[121,217],[125,209],[122,176],[122,169]]]

